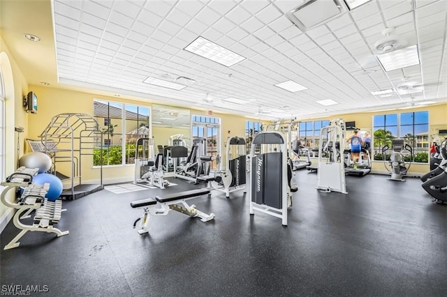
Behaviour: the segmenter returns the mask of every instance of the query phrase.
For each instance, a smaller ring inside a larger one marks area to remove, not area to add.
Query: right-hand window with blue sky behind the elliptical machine
[[[401,138],[413,148],[414,162],[428,162],[428,112],[377,115],[373,117],[373,130],[374,160],[389,158],[382,155],[383,146],[391,147],[393,139]]]

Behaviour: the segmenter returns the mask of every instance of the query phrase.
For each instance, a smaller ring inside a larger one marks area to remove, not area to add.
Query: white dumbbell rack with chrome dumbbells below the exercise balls
[[[45,183],[45,185],[36,185],[33,183],[33,176],[37,173],[37,168],[29,169],[20,167],[15,173],[8,176],[6,181],[1,183],[1,185],[6,187],[3,189],[3,192],[1,192],[1,202],[6,206],[17,209],[13,218],[13,223],[15,227],[22,230],[12,241],[10,241],[10,243],[8,243],[8,245],[5,246],[4,250],[17,248],[20,245],[20,242],[17,241],[19,241],[27,231],[52,232],[57,234],[57,237],[69,233],[69,231],[61,231],[54,227],[54,224],[57,224],[61,219],[61,213],[62,211],[65,211],[65,209],[62,209],[62,201],[48,201],[45,199],[50,184]],[[14,203],[8,201],[8,199],[6,199],[6,194],[11,189],[17,187],[24,187],[23,194]],[[24,224],[21,220],[30,218],[30,214],[33,211],[35,211],[33,223]]]

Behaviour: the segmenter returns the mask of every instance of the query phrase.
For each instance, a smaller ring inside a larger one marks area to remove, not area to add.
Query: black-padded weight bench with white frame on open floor
[[[178,211],[179,213],[184,213],[189,215],[191,218],[200,218],[202,222],[207,222],[214,219],[214,213],[207,215],[196,209],[195,205],[189,205],[186,203],[187,199],[197,197],[200,195],[211,195],[210,189],[196,189],[184,192],[177,192],[173,194],[156,196],[154,198],[141,199],[131,202],[132,208],[145,207],[143,214],[140,218],[135,220],[133,223],[133,228],[136,227],[138,221],[141,220],[139,234],[145,234],[149,232],[149,219],[150,215],[168,215],[169,211]],[[150,207],[154,206],[155,207]]]

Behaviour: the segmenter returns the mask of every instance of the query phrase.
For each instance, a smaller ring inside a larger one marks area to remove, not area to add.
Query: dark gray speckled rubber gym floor
[[[1,284],[47,285],[41,296],[447,296],[447,206],[418,178],[347,176],[348,195],[318,192],[306,170],[293,180],[288,227],[250,216],[242,192],[213,192],[189,202],[214,221],[171,212],[140,236],[141,211],[129,203],[196,188],[178,179],[166,190],[64,201],[67,236],[28,232],[4,251],[19,232],[8,224]]]

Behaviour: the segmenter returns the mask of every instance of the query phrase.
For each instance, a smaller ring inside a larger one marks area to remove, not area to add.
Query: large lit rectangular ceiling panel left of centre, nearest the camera
[[[235,63],[239,63],[245,59],[244,56],[227,50],[225,47],[221,47],[202,36],[198,36],[198,38],[185,47],[184,50],[192,52],[193,54],[198,54],[199,56],[203,56],[206,59],[210,59],[227,67],[233,66]]]

